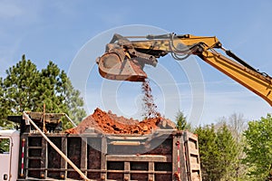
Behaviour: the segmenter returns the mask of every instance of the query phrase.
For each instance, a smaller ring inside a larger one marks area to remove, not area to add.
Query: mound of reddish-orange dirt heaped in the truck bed
[[[100,109],[94,110],[75,128],[65,132],[69,134],[82,134],[86,129],[95,129],[107,134],[150,134],[156,129],[175,129],[176,125],[170,119],[155,117],[138,121],[126,119],[112,114],[112,111],[105,112]]]

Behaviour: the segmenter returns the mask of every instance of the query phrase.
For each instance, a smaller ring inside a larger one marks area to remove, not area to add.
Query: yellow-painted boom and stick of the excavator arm
[[[134,48],[138,49],[171,52],[169,39],[133,41],[131,43]],[[177,46],[179,43],[186,46],[197,43],[205,44],[203,47],[204,51],[201,54],[198,54],[203,61],[208,62],[211,66],[225,73],[234,81],[238,81],[238,83],[248,88],[248,90],[253,91],[262,99],[267,100],[269,105],[272,106],[271,77],[265,76],[257,71],[252,71],[238,62],[228,59],[221,53],[212,51],[211,49],[214,46],[221,46],[221,43],[219,43],[219,39],[216,36],[205,37],[187,34],[186,37],[173,39],[174,46]]]

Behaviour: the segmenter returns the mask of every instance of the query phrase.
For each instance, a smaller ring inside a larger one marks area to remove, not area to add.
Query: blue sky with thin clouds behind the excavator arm
[[[224,47],[272,75],[271,9],[270,0],[1,0],[0,76],[5,77],[5,70],[23,54],[39,69],[51,60],[72,76],[75,88],[83,92],[89,113],[101,107],[141,118],[141,84],[105,81],[97,74],[95,57],[101,55],[111,33],[126,33],[131,27],[131,35],[216,35]],[[85,64],[80,64],[81,57]],[[168,56],[159,62],[158,70],[147,67],[146,71],[153,76],[151,86],[158,110],[167,118],[175,119],[176,112],[182,110],[190,121],[205,124],[234,112],[244,114],[246,119],[259,119],[271,112],[265,100],[196,57],[178,63]],[[87,67],[91,69],[82,70]],[[194,67],[200,72],[196,77],[192,77]],[[163,79],[162,71],[167,74]]]

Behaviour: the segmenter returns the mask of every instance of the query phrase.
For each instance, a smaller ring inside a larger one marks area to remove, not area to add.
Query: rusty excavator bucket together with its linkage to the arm
[[[129,39],[120,34],[113,35],[105,53],[96,62],[103,78],[116,81],[144,81],[147,78],[144,65],[155,67],[158,63],[155,56],[139,52]]]

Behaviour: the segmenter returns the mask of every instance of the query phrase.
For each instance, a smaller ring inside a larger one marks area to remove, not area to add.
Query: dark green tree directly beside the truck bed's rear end
[[[199,136],[199,156],[203,181],[234,180],[238,150],[228,127],[214,125],[195,129]]]

